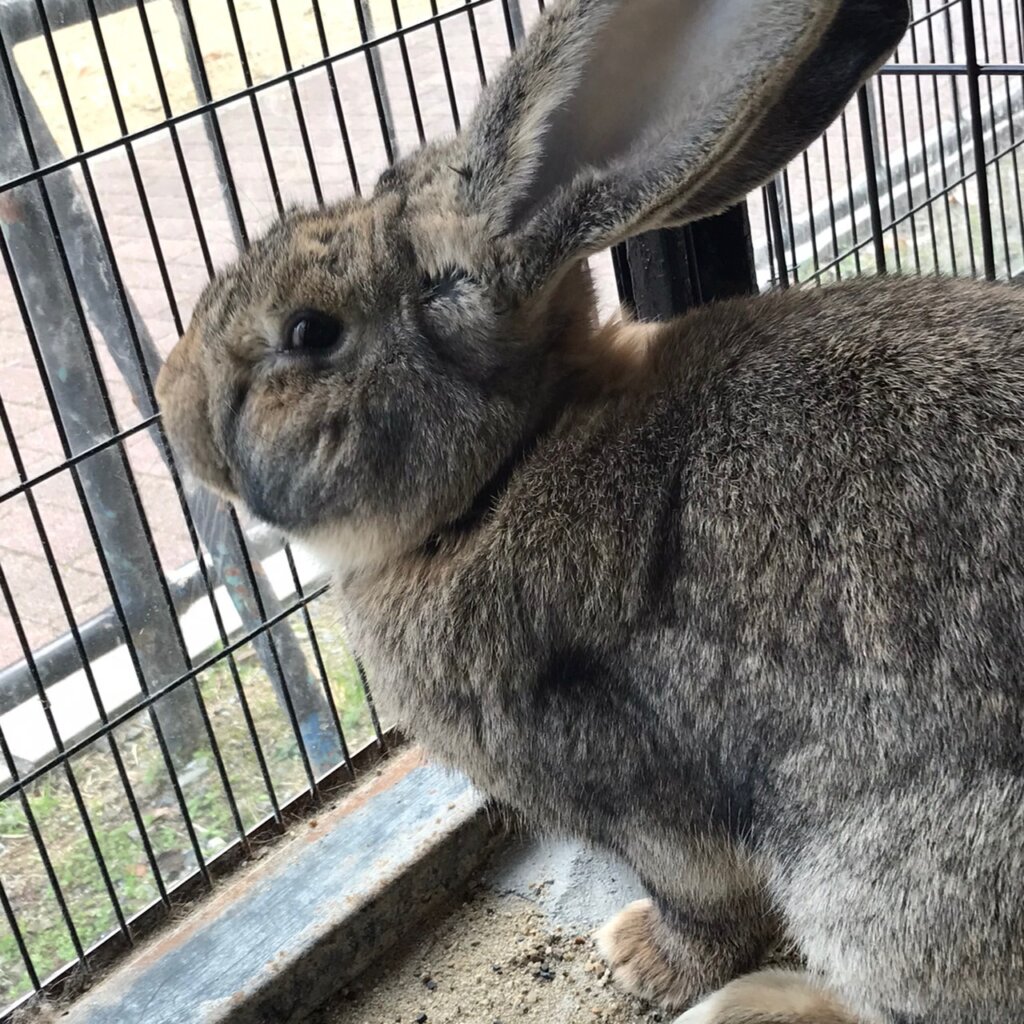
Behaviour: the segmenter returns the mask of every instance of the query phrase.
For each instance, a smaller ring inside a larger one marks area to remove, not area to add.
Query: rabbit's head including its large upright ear
[[[173,444],[344,562],[416,547],[585,386],[584,258],[741,199],[906,19],[905,0],[563,0],[460,135],[287,214],[208,286],[158,383]]]

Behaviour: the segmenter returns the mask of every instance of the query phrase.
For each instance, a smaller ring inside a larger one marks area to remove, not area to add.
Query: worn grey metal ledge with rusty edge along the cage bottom
[[[447,903],[495,833],[417,750],[75,1002],[66,1024],[299,1024]]]

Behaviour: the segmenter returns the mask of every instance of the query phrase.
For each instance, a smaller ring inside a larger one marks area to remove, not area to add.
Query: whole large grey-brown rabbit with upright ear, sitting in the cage
[[[385,711],[633,865],[599,946],[681,1024],[1024,1019],[1024,294],[602,325],[585,267],[742,199],[907,19],[560,0],[158,382],[190,473],[330,564]]]

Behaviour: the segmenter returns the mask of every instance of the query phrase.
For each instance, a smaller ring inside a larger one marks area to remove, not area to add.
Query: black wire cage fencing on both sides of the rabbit
[[[0,1016],[385,749],[319,568],[182,483],[153,381],[216,266],[457,129],[539,9],[0,0]],[[749,200],[763,288],[1024,270],[1021,6],[913,13]]]

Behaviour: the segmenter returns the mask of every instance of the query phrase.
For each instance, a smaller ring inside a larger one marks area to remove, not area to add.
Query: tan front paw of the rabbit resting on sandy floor
[[[680,937],[671,937],[673,950],[671,955],[667,953],[668,938],[657,907],[649,899],[637,900],[620,910],[594,936],[621,988],[679,1010],[719,982],[703,969],[702,957],[686,955],[686,943]]]

